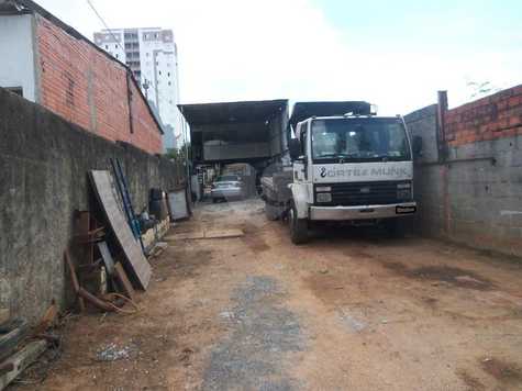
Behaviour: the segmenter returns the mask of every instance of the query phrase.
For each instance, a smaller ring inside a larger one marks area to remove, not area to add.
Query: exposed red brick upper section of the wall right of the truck
[[[449,146],[522,135],[522,85],[448,110]]]

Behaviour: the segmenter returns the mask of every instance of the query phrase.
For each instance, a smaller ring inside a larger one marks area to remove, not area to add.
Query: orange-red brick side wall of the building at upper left
[[[36,26],[40,103],[102,137],[160,154],[162,134],[135,83],[127,83],[127,69],[42,16]]]

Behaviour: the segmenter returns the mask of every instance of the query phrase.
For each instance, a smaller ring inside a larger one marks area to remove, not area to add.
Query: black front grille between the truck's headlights
[[[399,200],[397,198],[397,185],[408,181],[376,181],[376,182],[354,182],[354,183],[318,183],[316,187],[332,188],[332,202],[315,202],[316,205],[382,205],[400,203],[410,200]],[[315,192],[316,193],[316,192]]]

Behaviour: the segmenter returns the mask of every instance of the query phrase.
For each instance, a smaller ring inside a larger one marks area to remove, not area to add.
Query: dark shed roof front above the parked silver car
[[[267,121],[282,112],[288,100],[178,104],[191,126]]]

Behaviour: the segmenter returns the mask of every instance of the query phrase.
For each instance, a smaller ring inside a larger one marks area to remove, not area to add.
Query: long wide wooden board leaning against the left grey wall
[[[116,190],[109,171],[91,170],[90,179],[107,220],[111,225],[118,243],[123,249],[124,268],[137,288],[146,289],[151,280],[151,265],[134,238],[122,206],[118,201]]]

